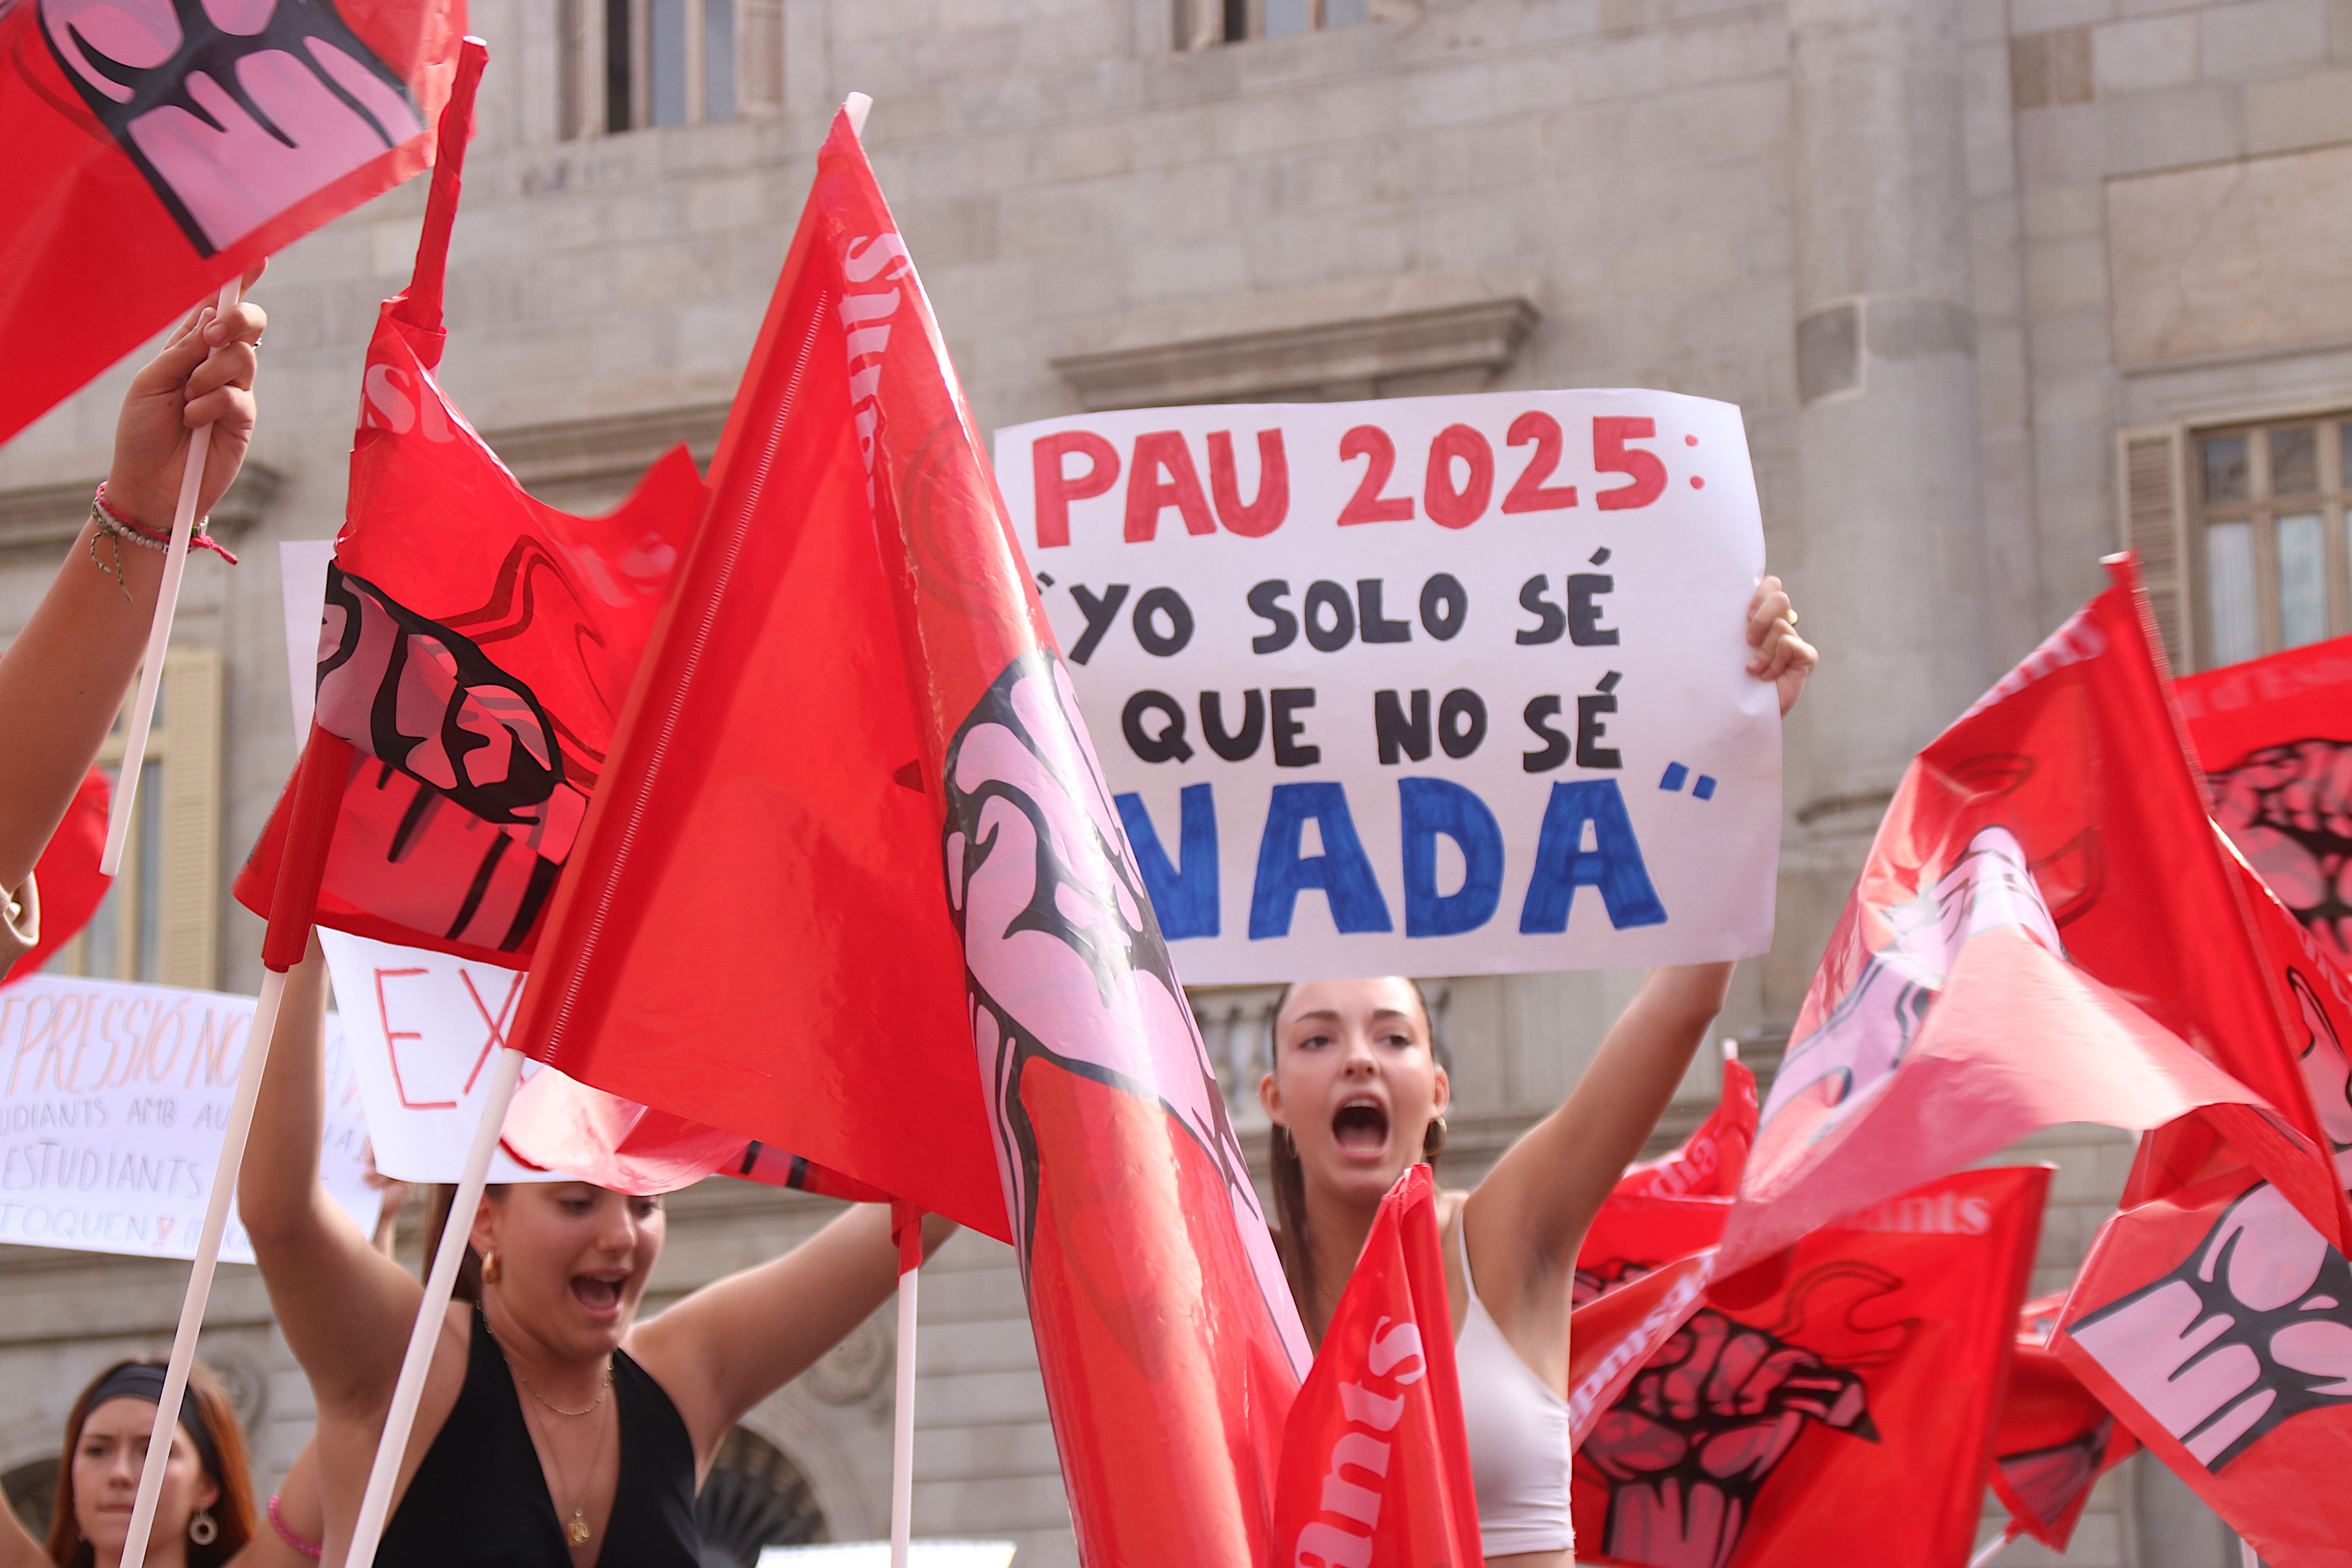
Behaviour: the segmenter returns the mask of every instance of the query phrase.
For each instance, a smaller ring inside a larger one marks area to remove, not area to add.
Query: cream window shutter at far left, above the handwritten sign
[[[221,654],[165,656],[162,877],[155,978],[212,990],[221,917]]]

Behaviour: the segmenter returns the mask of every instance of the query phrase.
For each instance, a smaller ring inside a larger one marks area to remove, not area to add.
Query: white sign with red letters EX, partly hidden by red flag
[[[367,1103],[376,1168],[405,1182],[454,1182],[522,1001],[522,971],[395,947],[320,926],[350,1067]],[[524,1081],[539,1063],[524,1063]],[[567,1182],[562,1171],[489,1157],[494,1182]]]

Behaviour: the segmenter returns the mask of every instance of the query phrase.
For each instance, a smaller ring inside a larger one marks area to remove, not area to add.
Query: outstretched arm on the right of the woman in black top
[[[929,1258],[955,1220],[924,1215]],[[708,1465],[755,1403],[804,1373],[898,1286],[889,1206],[858,1204],[774,1262],[703,1286],[630,1335]]]

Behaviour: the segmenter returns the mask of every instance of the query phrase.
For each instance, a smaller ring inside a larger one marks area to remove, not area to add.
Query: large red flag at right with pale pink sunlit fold
[[[2352,1232],[2138,578],[2110,571],[1905,773],[1764,1103],[1726,1272],[2034,1128],[2190,1112]]]

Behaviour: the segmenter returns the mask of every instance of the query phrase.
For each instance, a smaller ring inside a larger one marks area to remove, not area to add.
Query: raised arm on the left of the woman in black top
[[[238,1175],[238,1218],[320,1410],[362,1413],[390,1399],[423,1286],[369,1246],[320,1182],[325,1023],[327,961],[313,933],[310,952],[287,973]]]

